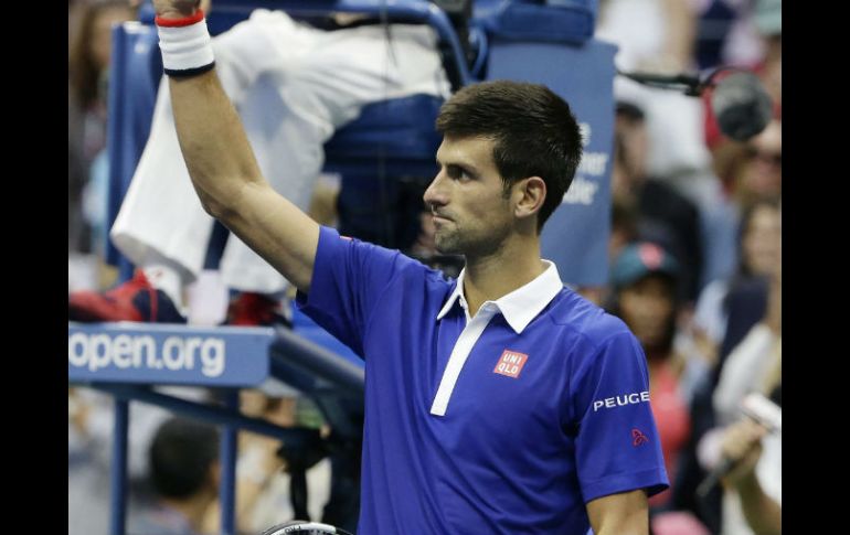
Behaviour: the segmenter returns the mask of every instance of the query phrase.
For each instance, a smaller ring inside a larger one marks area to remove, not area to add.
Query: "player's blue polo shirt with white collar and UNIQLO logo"
[[[642,350],[555,266],[468,315],[399,252],[322,227],[298,304],[365,359],[360,535],[577,534],[668,486]]]

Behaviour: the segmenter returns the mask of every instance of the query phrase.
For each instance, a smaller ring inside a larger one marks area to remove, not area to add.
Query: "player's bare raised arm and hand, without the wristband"
[[[198,3],[155,0],[155,9],[162,21],[179,20],[195,13]],[[307,292],[319,225],[263,178],[215,69],[172,75],[169,88],[180,149],[204,210]]]

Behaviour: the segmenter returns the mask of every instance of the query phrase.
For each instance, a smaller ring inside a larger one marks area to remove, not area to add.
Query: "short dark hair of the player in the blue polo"
[[[493,81],[457,92],[439,110],[437,131],[492,138],[493,162],[507,192],[528,176],[546,183],[538,231],[561,204],[582,158],[582,135],[570,105],[549,87]]]

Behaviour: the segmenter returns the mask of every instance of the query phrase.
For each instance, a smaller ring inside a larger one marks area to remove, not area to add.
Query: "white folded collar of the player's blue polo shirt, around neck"
[[[487,303],[493,303],[508,321],[508,324],[511,325],[511,329],[513,329],[517,334],[521,333],[523,329],[531,323],[531,320],[536,318],[546,304],[557,296],[557,292],[564,288],[564,283],[561,282],[561,276],[557,275],[557,267],[555,267],[554,263],[549,260],[543,261],[549,265],[545,271],[507,296],[502,296],[496,301],[486,301],[481,304],[481,309],[485,309]],[[443,309],[437,314],[437,320],[442,320],[443,317],[451,310],[451,307],[457,300],[460,300],[460,306],[466,311],[467,317],[469,315],[469,309],[463,291],[465,274],[466,268],[460,270],[460,275],[457,277],[455,291],[451,292],[448,300],[443,306]]]

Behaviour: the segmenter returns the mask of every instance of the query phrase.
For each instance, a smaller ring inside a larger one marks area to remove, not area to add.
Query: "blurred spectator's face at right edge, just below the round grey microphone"
[[[767,128],[746,147],[742,188],[753,199],[778,199],[782,195],[782,122]]]

